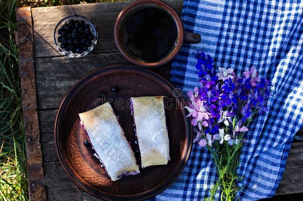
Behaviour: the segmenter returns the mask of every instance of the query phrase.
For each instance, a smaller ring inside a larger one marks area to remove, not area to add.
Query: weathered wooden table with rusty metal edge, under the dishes
[[[57,108],[76,81],[99,67],[128,64],[113,36],[118,13],[130,2],[92,3],[57,7],[19,8],[16,43],[20,53],[22,104],[26,130],[29,197],[37,200],[85,200],[89,196],[63,171],[54,147]],[[169,1],[178,12],[182,0]],[[79,14],[97,26],[95,49],[83,58],[67,58],[55,48],[53,31],[63,17]],[[170,65],[152,69],[168,79]],[[303,192],[303,142],[293,143],[277,194]]]

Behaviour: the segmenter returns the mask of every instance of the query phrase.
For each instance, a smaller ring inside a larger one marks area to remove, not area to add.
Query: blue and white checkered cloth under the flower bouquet
[[[171,82],[184,94],[199,85],[194,55],[203,48],[216,67],[241,73],[255,66],[271,78],[269,112],[250,126],[238,185],[241,200],[274,196],[293,137],[303,127],[303,2],[184,0],[182,20],[185,31],[202,36],[200,44],[184,44],[172,66]],[[210,153],[194,144],[180,177],[154,199],[203,200],[216,181]]]

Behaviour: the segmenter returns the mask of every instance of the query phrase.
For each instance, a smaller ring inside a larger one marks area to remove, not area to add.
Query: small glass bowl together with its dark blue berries
[[[97,31],[86,17],[71,15],[63,18],[54,31],[54,42],[68,57],[82,57],[90,53],[97,43]]]

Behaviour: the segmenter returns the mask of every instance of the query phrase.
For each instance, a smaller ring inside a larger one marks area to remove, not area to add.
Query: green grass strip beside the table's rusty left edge
[[[13,39],[17,0],[0,0],[0,200],[27,200],[18,52]]]

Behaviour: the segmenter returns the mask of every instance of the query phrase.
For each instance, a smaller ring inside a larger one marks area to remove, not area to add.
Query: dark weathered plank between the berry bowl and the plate
[[[57,108],[64,95],[87,73],[110,65],[129,64],[120,53],[88,55],[83,58],[54,57],[35,60],[39,109]],[[151,70],[168,79],[170,63]]]

